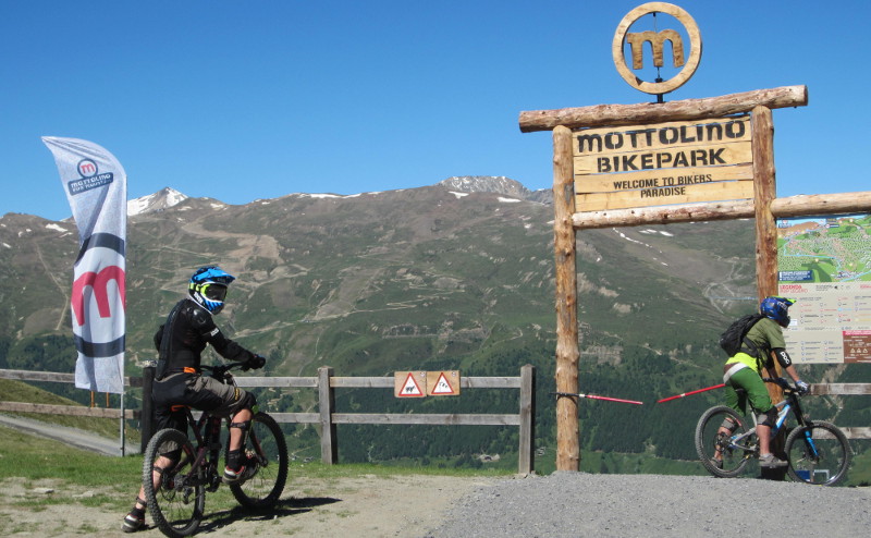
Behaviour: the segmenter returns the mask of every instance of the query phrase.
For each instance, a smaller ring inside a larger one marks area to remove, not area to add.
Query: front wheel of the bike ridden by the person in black
[[[266,413],[257,413],[245,439],[252,476],[230,490],[240,504],[249,509],[273,506],[287,480],[287,444],[278,423]]]

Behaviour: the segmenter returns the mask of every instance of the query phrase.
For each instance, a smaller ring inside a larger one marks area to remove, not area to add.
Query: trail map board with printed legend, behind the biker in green
[[[784,331],[796,363],[871,363],[871,215],[777,221]]]

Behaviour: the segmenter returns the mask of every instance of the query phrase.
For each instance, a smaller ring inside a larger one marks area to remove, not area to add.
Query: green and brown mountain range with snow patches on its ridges
[[[127,375],[155,358],[152,334],[184,296],[194,269],[217,264],[237,280],[216,321],[266,355],[270,376],[314,376],[321,366],[338,376],[418,369],[516,376],[533,364],[537,442],[542,461],[550,460],[550,194],[507,178],[458,176],[418,188],[297,193],[240,206],[169,187],[131,200]],[[71,221],[0,218],[0,367],[72,371],[69,297],[77,247]],[[720,382],[716,335],[755,308],[748,301],[755,296],[751,220],[580,231],[577,248],[581,392],[651,402]],[[261,400],[275,411],[308,409],[316,404],[309,392],[270,389]],[[476,402],[464,394],[457,404],[396,402],[372,392],[341,393],[339,408],[421,413],[477,405],[512,412],[517,405],[505,395]],[[135,406],[138,396],[131,398]],[[689,460],[691,429],[714,401],[712,393],[667,409],[585,404],[582,450]],[[687,437],[675,436],[675,424]],[[516,450],[516,432],[505,428],[416,428],[342,426],[342,435],[360,441],[340,444],[341,455],[468,461],[470,454]],[[317,450],[311,427],[287,431],[298,450]],[[409,431],[425,441],[414,448],[384,441]],[[613,465],[626,470],[626,461]]]

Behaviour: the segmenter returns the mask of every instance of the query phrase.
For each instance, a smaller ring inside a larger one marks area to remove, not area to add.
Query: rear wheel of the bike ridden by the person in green
[[[732,433],[721,431],[724,424],[731,425]],[[734,447],[729,439],[747,432],[744,418],[732,407],[717,405],[706,411],[696,425],[696,452],[704,468],[721,478],[733,478],[741,474],[752,453],[750,439],[756,436],[743,438],[737,442],[738,447]]]

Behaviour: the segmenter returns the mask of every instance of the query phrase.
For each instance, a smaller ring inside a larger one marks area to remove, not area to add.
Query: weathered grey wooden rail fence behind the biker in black
[[[517,426],[519,427],[519,451],[517,468],[520,474],[535,469],[535,367],[520,368],[520,377],[461,377],[461,389],[519,389],[519,413],[517,414],[389,414],[389,413],[339,413],[335,409],[335,389],[390,389],[392,377],[335,377],[333,369],[318,369],[318,377],[236,377],[236,383],[245,388],[310,388],[318,391],[317,413],[270,413],[278,423],[315,424],[321,427],[321,461],[334,464],[339,461],[339,424],[400,424],[430,426]],[[143,378],[125,378],[124,384],[150,387],[154,368],[143,368]],[[34,372],[26,370],[0,370],[0,378],[22,381],[74,382],[72,374]],[[446,396],[441,396],[446,398]],[[149,416],[148,405],[144,405]],[[79,415],[120,418],[121,409],[90,408],[79,406],[42,405],[22,402],[0,402],[0,412],[51,413],[56,415]],[[125,418],[139,418],[143,413],[127,409]],[[152,427],[143,420],[143,443],[148,442]]]

